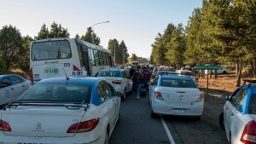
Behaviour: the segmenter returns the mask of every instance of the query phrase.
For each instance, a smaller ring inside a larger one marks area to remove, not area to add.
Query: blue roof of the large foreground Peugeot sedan
[[[83,77],[83,78],[46,78],[40,80],[37,84],[96,84],[99,80],[103,78],[96,77]]]

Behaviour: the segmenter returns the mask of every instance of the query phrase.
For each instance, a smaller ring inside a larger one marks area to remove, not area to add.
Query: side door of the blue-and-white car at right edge
[[[230,131],[230,126],[233,123],[234,118],[236,118],[236,115],[239,113],[238,109],[239,109],[246,93],[247,93],[246,89],[241,89],[238,92],[238,94],[236,95],[235,99],[233,101],[227,103],[226,113],[225,113],[226,132]]]

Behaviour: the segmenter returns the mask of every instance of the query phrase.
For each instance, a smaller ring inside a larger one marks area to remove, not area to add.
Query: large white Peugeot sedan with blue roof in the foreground
[[[104,78],[40,80],[0,111],[0,141],[108,143],[119,119],[120,95]]]

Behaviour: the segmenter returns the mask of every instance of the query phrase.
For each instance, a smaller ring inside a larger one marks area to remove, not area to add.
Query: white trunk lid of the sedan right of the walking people
[[[167,105],[189,106],[201,95],[199,89],[161,87],[160,93]]]

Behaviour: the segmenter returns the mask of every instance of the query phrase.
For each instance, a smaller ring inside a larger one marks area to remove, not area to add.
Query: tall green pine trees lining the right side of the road
[[[256,77],[256,1],[203,0],[187,26],[169,24],[152,44],[150,63],[180,68],[183,65],[236,64],[249,66]]]

